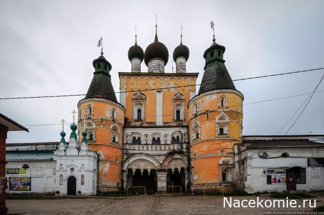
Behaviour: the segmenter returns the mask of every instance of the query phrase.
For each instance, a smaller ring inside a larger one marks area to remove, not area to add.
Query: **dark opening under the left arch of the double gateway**
[[[141,170],[136,169],[133,176],[132,186],[145,186],[147,194],[155,194],[157,191],[156,170],[152,169],[149,173],[147,169],[144,169],[143,174],[141,174]]]

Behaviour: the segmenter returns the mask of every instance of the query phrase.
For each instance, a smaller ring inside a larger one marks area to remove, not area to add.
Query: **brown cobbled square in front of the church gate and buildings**
[[[262,199],[271,199],[268,196]],[[256,199],[256,196],[233,197],[232,199]],[[317,205],[324,203],[318,196]],[[298,204],[302,200],[297,200]],[[159,195],[133,196],[125,199],[64,198],[7,200],[8,214],[264,214],[264,211],[310,211],[312,208],[224,208],[222,197],[184,196],[163,197]]]

